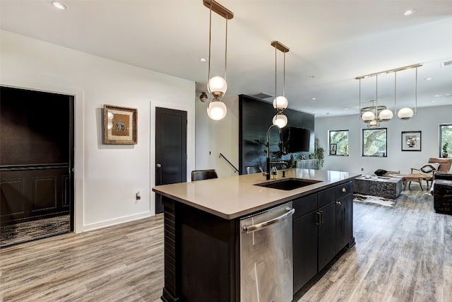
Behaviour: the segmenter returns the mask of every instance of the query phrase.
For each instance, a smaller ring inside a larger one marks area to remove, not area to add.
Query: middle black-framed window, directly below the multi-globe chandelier
[[[388,156],[387,128],[362,129],[362,156]]]

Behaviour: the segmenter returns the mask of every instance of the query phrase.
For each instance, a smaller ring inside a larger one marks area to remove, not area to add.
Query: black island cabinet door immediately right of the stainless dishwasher
[[[294,294],[317,273],[316,211],[293,222]]]

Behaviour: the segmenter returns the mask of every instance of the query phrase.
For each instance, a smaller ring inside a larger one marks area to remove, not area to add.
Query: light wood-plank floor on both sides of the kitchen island
[[[412,189],[355,203],[357,244],[299,301],[452,301],[452,216]],[[0,301],[160,301],[162,231],[159,214],[0,250]]]

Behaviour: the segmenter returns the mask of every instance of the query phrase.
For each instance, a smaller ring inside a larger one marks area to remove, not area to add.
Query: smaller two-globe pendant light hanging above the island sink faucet
[[[270,43],[271,46],[275,47],[275,99],[273,100],[273,108],[275,108],[278,112],[273,117],[273,124],[283,128],[287,125],[287,117],[283,114],[285,108],[289,102],[287,98],[285,98],[285,53],[289,52],[289,47],[281,44],[279,41],[272,41]],[[280,50],[284,54],[284,66],[283,66],[283,95],[278,96],[278,59],[277,52]]]

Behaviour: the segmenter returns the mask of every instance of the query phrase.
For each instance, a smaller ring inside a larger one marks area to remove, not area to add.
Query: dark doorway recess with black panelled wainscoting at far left
[[[1,226],[73,221],[73,105],[72,95],[0,87]]]

